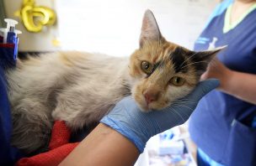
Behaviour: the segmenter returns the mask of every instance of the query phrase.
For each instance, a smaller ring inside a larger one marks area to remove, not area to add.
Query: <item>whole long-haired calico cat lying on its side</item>
[[[194,52],[168,42],[147,10],[130,58],[64,51],[18,60],[6,73],[11,143],[24,153],[45,149],[54,120],[76,131],[99,122],[125,96],[144,112],[169,106],[193,90],[219,50]]]

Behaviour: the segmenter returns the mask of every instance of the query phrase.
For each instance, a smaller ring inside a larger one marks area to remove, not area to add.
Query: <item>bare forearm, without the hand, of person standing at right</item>
[[[225,93],[256,104],[256,75],[229,70],[219,88]]]

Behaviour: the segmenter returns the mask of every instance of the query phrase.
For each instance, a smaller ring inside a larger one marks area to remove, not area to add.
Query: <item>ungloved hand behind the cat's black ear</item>
[[[201,75],[201,80],[216,78],[220,80],[220,86],[218,88],[222,90],[225,86],[227,86],[228,80],[230,80],[231,76],[232,70],[229,70],[225,65],[221,63],[220,60],[214,59],[208,65],[205,73]]]

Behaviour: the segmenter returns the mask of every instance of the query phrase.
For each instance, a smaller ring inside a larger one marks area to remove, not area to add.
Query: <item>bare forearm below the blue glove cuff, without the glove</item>
[[[130,166],[136,163],[139,154],[126,137],[100,123],[60,165]]]

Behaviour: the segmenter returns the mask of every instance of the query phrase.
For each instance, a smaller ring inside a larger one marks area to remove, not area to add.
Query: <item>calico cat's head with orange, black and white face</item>
[[[140,48],[131,54],[132,96],[145,112],[169,106],[192,91],[220,49],[195,52],[163,38],[153,13],[144,14]]]

